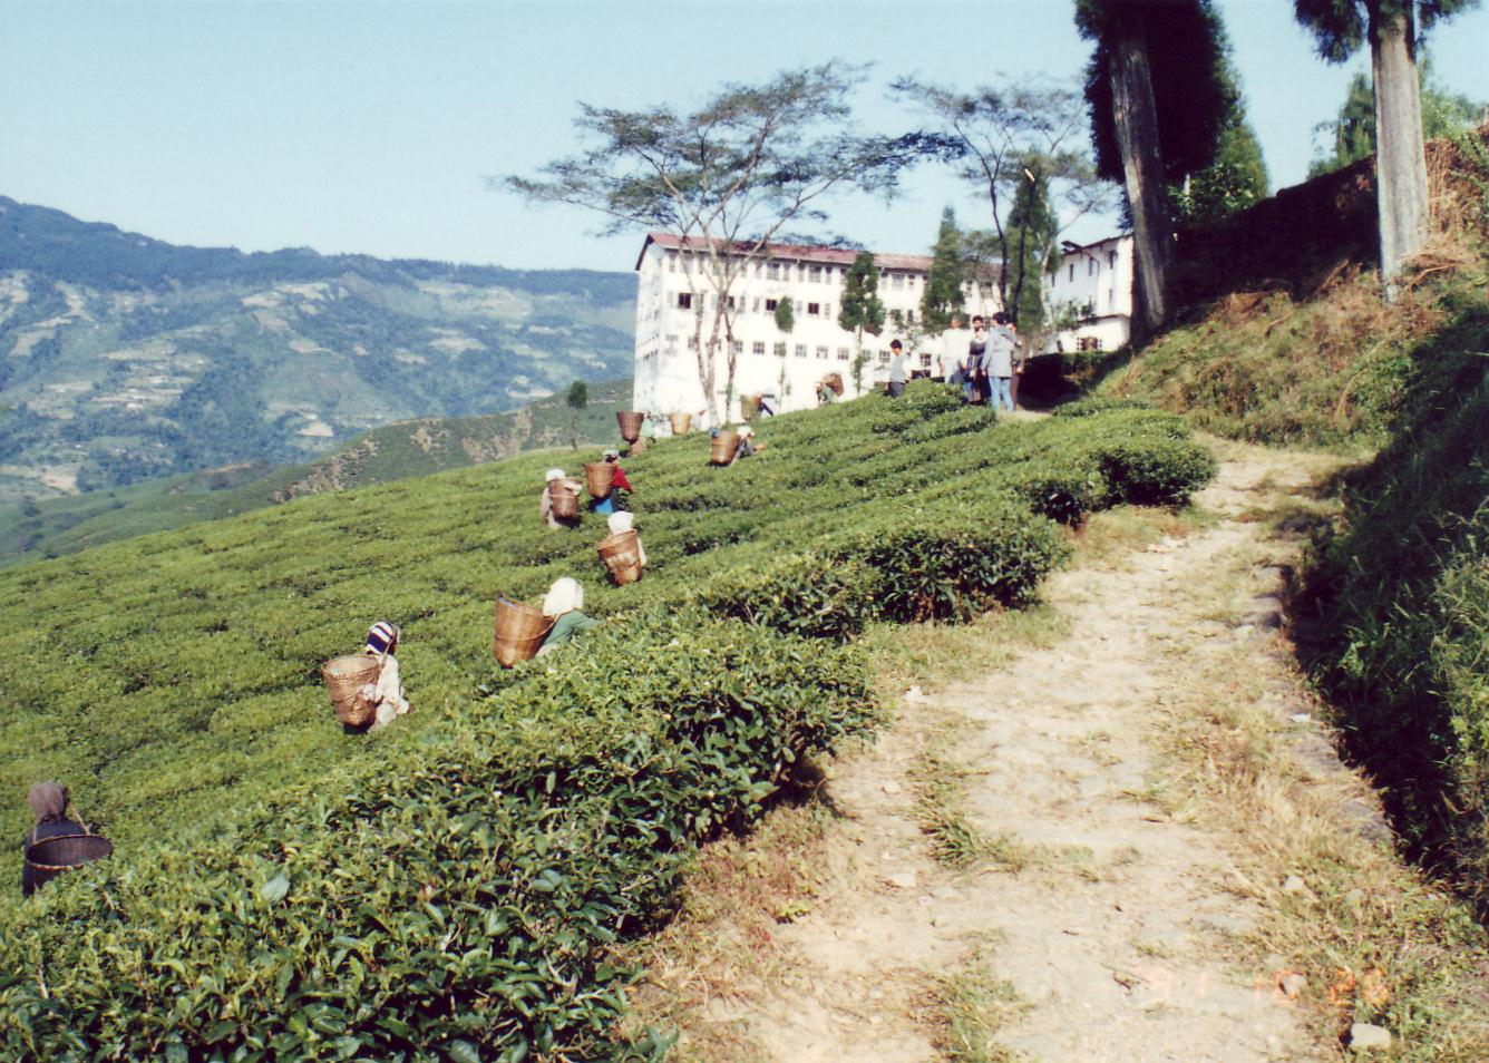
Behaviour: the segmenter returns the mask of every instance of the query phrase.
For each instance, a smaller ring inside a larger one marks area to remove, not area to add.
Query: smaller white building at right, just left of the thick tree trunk
[[[1132,237],[1094,244],[1063,243],[1060,268],[1045,277],[1045,299],[1056,319],[1075,311],[1077,326],[1051,333],[1048,351],[1109,351],[1132,332]]]

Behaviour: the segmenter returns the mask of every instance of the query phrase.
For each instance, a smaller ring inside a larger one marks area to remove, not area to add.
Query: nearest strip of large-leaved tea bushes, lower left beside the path
[[[605,950],[666,908],[692,840],[871,722],[867,671],[695,613],[521,673],[337,792],[10,913],[4,1059],[613,1059]]]

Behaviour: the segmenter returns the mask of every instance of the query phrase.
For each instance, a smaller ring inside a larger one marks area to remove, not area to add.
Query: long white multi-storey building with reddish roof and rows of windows
[[[682,241],[670,234],[652,232],[636,259],[640,274],[636,290],[636,384],[633,408],[651,414],[697,414],[707,403],[698,381],[694,351],[695,314],[703,301],[706,311],[703,342],[713,323],[716,295],[703,269],[703,241]],[[697,255],[689,271],[679,256]],[[736,281],[728,298],[734,301],[734,400],[725,411],[739,418],[742,395],[773,395],[777,412],[816,405],[816,383],[829,372],[843,375],[849,398],[859,392],[853,380],[858,341],[837,323],[843,305],[843,281],[856,252],[835,247],[767,244],[759,259]],[[901,339],[914,356],[913,366],[929,366],[929,342],[917,328],[920,298],[925,293],[931,258],[925,255],[876,255],[879,298],[884,304],[884,329],[864,336],[870,356],[862,371],[868,390],[883,380],[889,366],[889,341]],[[783,332],[776,325],[776,307],[791,299],[795,325]],[[972,286],[968,292],[969,314],[992,314],[996,292],[984,298]],[[715,390],[724,408],[727,350],[716,354]]]

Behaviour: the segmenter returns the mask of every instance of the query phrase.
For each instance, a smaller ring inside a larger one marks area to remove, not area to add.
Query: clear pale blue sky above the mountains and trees
[[[1328,67],[1291,0],[1221,0],[1273,186],[1303,179],[1312,128],[1356,60]],[[841,57],[874,63],[859,110],[911,121],[883,83],[972,88],[1080,74],[1071,0],[70,3],[0,0],[0,194],[182,244],[630,269],[639,238],[529,210],[484,177],[573,149],[575,101],[686,106],[724,80]],[[1489,100],[1489,12],[1431,40],[1449,88]],[[944,205],[986,207],[917,173],[889,210],[843,201],[834,228],[923,252]],[[1096,222],[1072,235],[1105,235]]]

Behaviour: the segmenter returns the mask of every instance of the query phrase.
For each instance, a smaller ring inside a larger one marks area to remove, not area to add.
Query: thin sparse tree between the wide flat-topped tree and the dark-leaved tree
[[[1015,313],[1020,293],[1039,284],[1038,268],[1026,272],[1033,259],[1024,253],[1041,238],[1023,229],[1035,214],[1014,213],[1033,174],[1060,228],[1111,202],[1085,144],[1080,92],[1038,79],[1005,79],[972,92],[917,79],[892,88],[932,116],[941,156],[986,195],[987,234],[963,234],[963,250],[977,281],[996,287],[1001,305]]]

